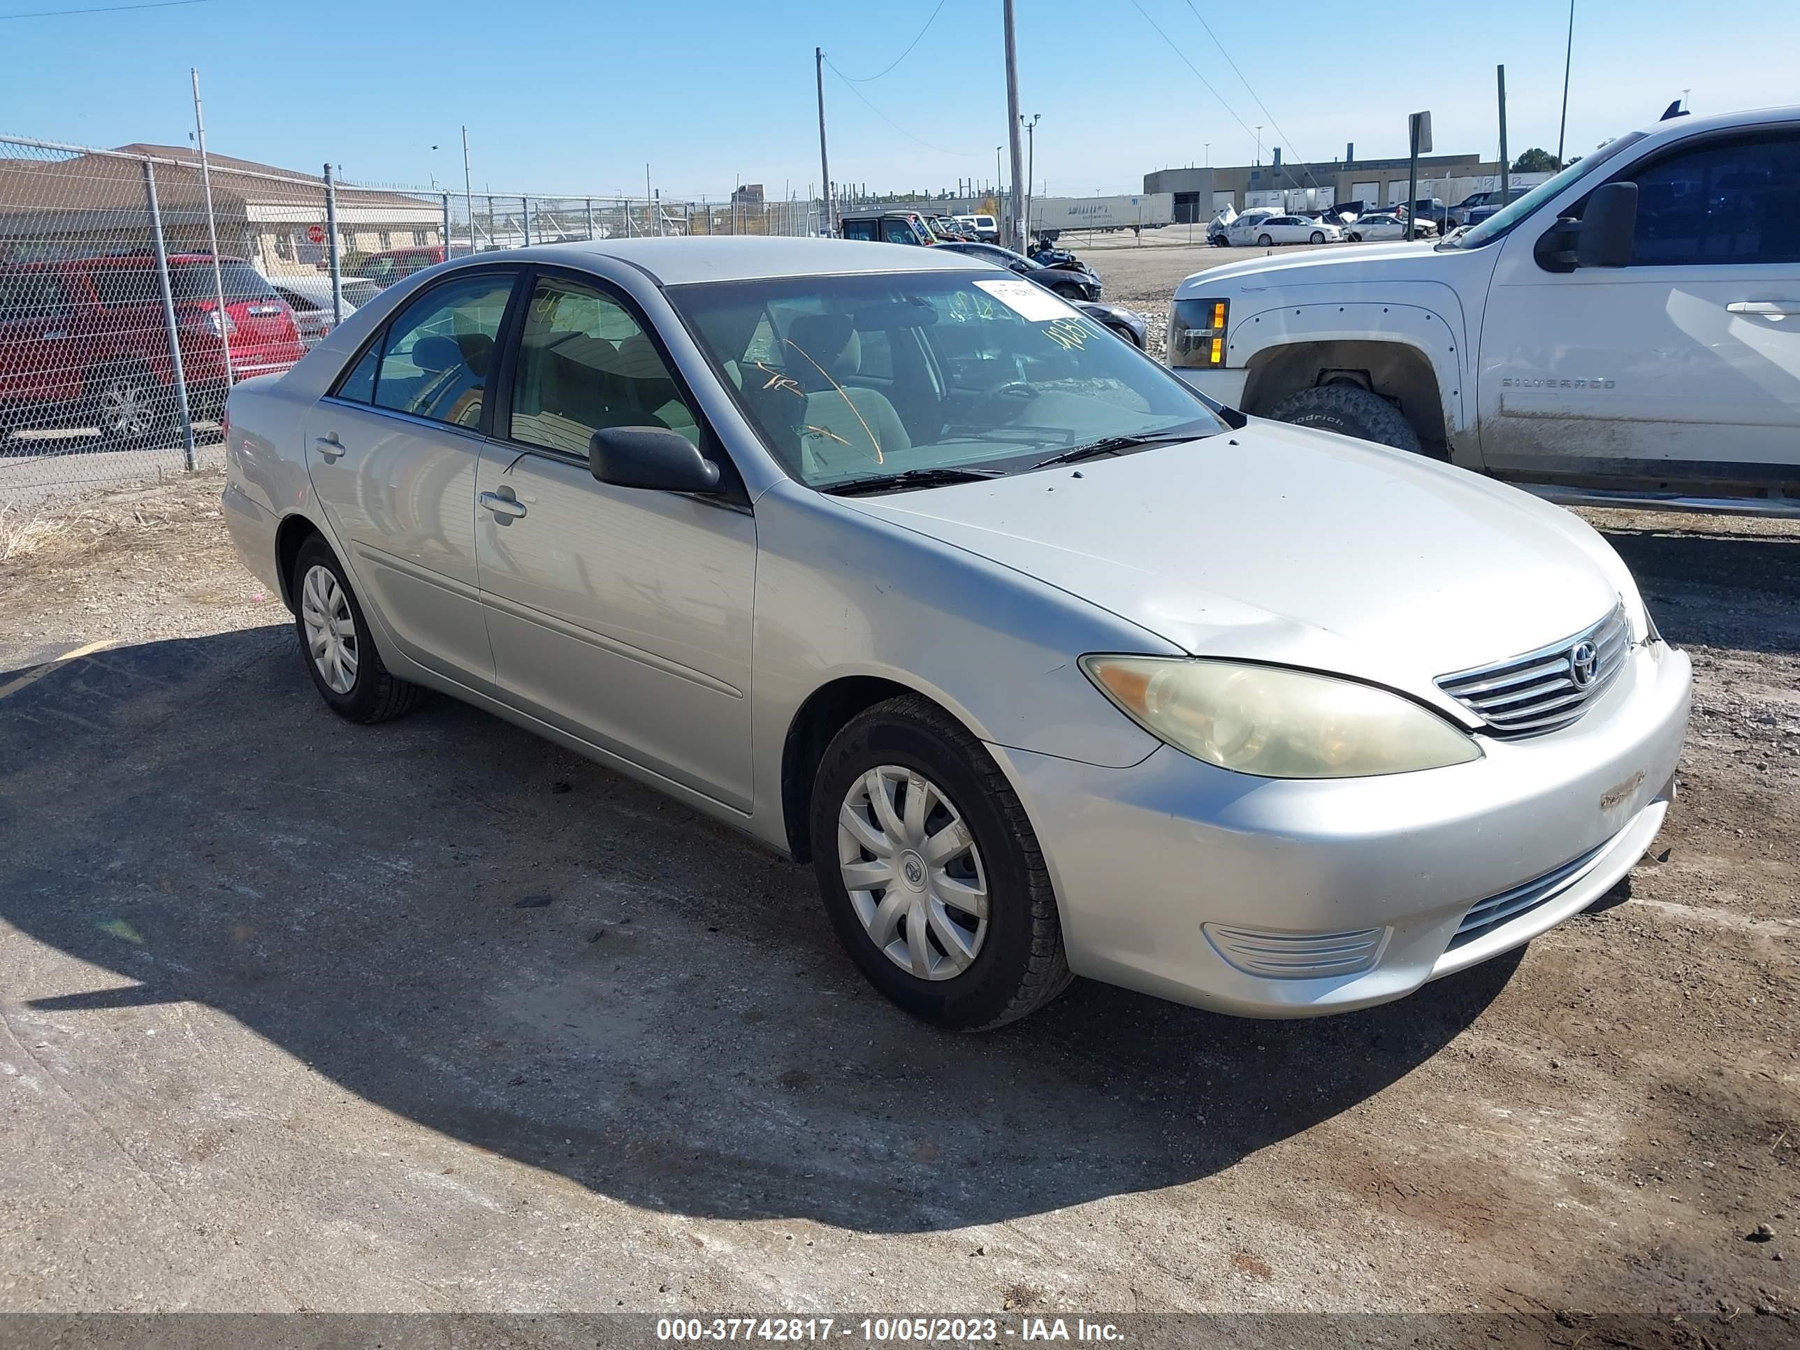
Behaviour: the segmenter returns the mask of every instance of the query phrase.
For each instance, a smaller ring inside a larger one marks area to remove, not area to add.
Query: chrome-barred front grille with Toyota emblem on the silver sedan
[[[1487,722],[1496,736],[1537,736],[1586,713],[1625,668],[1629,652],[1631,628],[1625,607],[1618,605],[1600,623],[1561,643],[1492,666],[1440,675],[1438,688]]]

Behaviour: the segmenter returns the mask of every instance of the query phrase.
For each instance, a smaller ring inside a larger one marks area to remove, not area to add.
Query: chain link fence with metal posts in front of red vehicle
[[[819,202],[346,184],[185,146],[0,137],[0,511],[223,463],[238,380],[292,367],[383,286],[470,252],[790,234]]]

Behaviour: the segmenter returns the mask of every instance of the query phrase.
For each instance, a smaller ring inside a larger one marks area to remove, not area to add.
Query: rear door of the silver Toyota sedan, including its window
[[[421,292],[306,414],[313,491],[365,605],[405,655],[482,691],[475,466],[517,275],[463,270]]]

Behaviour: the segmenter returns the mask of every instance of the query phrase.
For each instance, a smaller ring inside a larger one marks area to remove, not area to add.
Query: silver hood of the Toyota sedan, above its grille
[[[1579,632],[1631,589],[1618,556],[1561,508],[1400,450],[1260,419],[844,506],[1048,581],[1183,652],[1426,697],[1438,675]]]

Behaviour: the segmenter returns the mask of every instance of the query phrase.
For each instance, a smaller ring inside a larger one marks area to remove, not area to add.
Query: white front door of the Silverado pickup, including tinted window
[[[1793,481],[1800,124],[1678,142],[1638,185],[1631,265],[1566,268],[1514,230],[1483,324],[1490,468]]]

